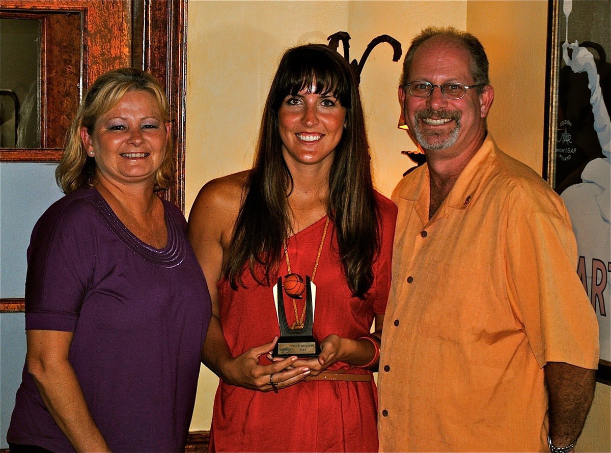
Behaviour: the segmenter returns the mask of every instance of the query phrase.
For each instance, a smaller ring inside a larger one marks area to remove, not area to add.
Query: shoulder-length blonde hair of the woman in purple
[[[136,68],[120,68],[102,74],[87,90],[75,118],[66,132],[64,153],[55,170],[57,185],[65,194],[78,187],[91,187],[95,175],[95,159],[87,156],[81,140],[81,128],[93,134],[98,118],[119,104],[129,91],[151,93],[158,104],[161,119],[169,121],[167,98],[161,85],[151,74]],[[176,165],[172,153],[172,140],[167,139],[166,154],[155,173],[155,190],[167,189],[174,183]]]

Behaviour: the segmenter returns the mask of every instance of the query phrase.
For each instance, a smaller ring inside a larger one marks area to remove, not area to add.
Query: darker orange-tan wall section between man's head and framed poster
[[[495,89],[489,130],[502,150],[541,175],[547,2],[469,1],[466,29],[488,53]]]

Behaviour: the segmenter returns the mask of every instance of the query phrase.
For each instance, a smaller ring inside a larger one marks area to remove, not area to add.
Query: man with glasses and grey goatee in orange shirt
[[[393,193],[380,450],[569,452],[599,350],[565,206],[488,134],[477,38],[423,31],[398,94],[427,162]]]

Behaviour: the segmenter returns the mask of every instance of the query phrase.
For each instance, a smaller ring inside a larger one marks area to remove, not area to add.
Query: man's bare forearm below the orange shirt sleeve
[[[596,370],[563,362],[544,368],[549,393],[549,437],[562,447],[574,442],[584,427],[594,398]]]

